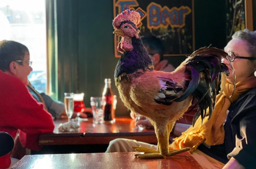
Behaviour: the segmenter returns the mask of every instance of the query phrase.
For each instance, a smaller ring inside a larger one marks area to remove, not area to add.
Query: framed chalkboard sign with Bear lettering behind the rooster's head
[[[195,50],[194,0],[113,0],[114,18],[130,9],[140,13],[140,35],[154,35],[164,43],[164,56],[190,55]],[[115,57],[121,37],[114,35]]]

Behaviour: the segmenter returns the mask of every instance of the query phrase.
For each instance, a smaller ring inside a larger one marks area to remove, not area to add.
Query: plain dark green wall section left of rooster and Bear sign
[[[114,85],[118,58],[114,57],[113,3],[79,0],[78,4],[79,92],[85,93],[86,106],[90,106],[90,96],[102,96],[104,79],[110,78],[113,93],[118,96],[116,114],[125,114],[127,108]]]

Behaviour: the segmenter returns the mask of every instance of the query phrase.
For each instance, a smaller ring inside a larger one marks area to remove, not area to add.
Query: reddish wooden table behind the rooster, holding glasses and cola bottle
[[[40,145],[108,144],[116,138],[157,143],[154,130],[133,130],[134,120],[131,118],[116,118],[114,124],[93,124],[92,118],[88,118],[88,121],[79,122],[78,132],[59,132],[59,124],[67,121],[67,119],[54,121],[54,133],[42,134],[39,138]]]

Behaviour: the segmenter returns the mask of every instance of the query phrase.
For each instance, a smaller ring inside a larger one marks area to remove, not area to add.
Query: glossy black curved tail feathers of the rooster
[[[194,107],[199,105],[199,108],[194,115],[193,126],[199,116],[202,120],[206,116],[209,116],[208,119],[212,116],[220,81],[226,77],[225,75],[229,75],[228,67],[221,63],[222,57],[227,59],[227,56],[228,54],[221,49],[207,47],[198,49],[186,60],[186,72],[190,73],[191,81],[184,94],[174,101],[181,102],[190,94],[198,100],[197,104],[194,105]],[[225,75],[221,78],[222,72]],[[207,108],[209,108],[209,114],[206,114]]]

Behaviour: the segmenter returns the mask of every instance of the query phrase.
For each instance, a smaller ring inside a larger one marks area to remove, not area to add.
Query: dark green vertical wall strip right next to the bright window
[[[57,0],[58,98],[78,91],[78,0]]]

